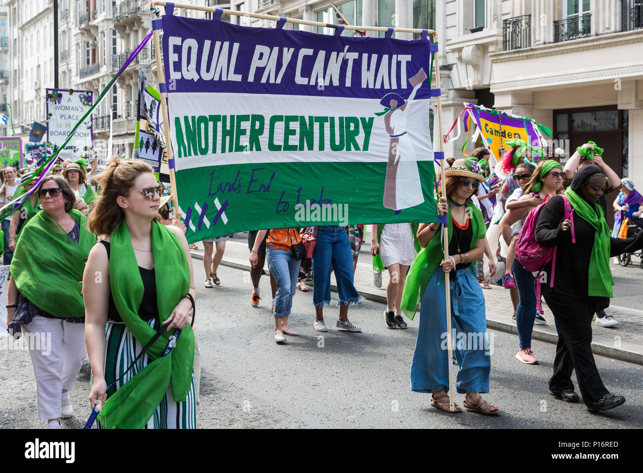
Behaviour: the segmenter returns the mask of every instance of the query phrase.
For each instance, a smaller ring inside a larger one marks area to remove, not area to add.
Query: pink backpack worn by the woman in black
[[[549,194],[548,194],[549,195]],[[563,220],[570,219],[572,221],[572,243],[576,243],[574,235],[574,213],[572,212],[572,205],[565,194],[560,194],[565,201],[565,214]],[[545,202],[541,203],[536,209],[527,214],[525,225],[520,230],[518,240],[516,241],[516,258],[520,261],[527,271],[540,272],[549,261],[552,261],[552,278],[549,286],[554,287],[554,272],[556,271],[556,246],[541,246],[536,242],[536,222],[538,221],[538,214],[543,205],[547,203],[547,196]],[[540,301],[540,275],[536,276],[536,297]],[[538,302],[540,305],[540,302]]]

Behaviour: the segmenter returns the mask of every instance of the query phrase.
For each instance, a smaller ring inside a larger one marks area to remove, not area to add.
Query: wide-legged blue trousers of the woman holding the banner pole
[[[420,326],[411,364],[411,389],[417,393],[449,391],[444,272],[431,277],[420,303]],[[442,281],[441,281],[442,280]],[[439,284],[440,283],[440,284]],[[451,283],[453,348],[460,367],[455,378],[458,393],[489,393],[491,345],[487,341],[485,301],[471,266],[457,271]]]

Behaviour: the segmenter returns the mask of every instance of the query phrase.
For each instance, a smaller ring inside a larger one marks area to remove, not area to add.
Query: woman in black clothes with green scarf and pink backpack
[[[541,285],[559,330],[549,390],[565,401],[578,400],[572,383],[572,370],[576,369],[583,402],[590,412],[606,411],[625,402],[624,396],[607,390],[596,369],[591,346],[592,319],[596,310],[610,305],[613,296],[610,254],[643,248],[643,232],[627,239],[610,236],[598,204],[604,188],[601,168],[583,166],[565,192],[572,205],[573,221],[563,221],[563,198],[554,197],[540,210],[536,223],[536,241],[543,246],[557,246],[554,287]],[[544,270],[550,277],[552,263],[546,264]]]

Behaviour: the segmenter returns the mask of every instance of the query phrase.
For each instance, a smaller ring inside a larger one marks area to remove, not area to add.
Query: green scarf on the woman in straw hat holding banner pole
[[[471,230],[473,231],[471,246],[468,250],[471,251],[476,246],[476,243],[478,243],[478,240],[480,238],[484,238],[485,233],[487,232],[487,227],[485,227],[482,212],[478,210],[478,207],[476,207],[471,201],[468,201],[466,205],[470,216],[469,225],[471,225]],[[450,242],[451,236],[453,236],[451,207],[449,207],[449,214],[447,216],[447,227]],[[439,268],[442,259],[444,259],[442,235],[438,233],[431,238],[428,246],[426,246],[426,248],[422,248],[415,259],[413,259],[413,264],[406,275],[401,306],[404,311],[404,315],[409,319],[413,320],[413,317],[415,317],[415,312],[419,307],[422,295],[424,295],[424,291],[426,290],[426,286],[428,286],[429,281],[431,281],[431,277],[433,277],[435,270]],[[471,269],[473,269],[475,264],[476,261],[471,262]]]

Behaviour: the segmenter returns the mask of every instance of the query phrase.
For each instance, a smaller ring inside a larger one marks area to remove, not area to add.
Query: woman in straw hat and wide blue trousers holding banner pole
[[[486,340],[487,320],[482,288],[473,274],[473,264],[485,248],[482,212],[471,202],[484,181],[479,163],[457,160],[446,171],[446,196],[440,198],[438,213],[448,215],[449,257],[442,261],[442,236],[437,223],[421,223],[417,239],[422,250],[413,260],[402,295],[402,310],[413,318],[420,304],[420,326],[411,366],[411,389],[433,393],[431,405],[444,412],[460,412],[449,406],[449,364],[446,351],[446,295],[444,273],[451,284],[453,333],[478,335],[476,344],[455,345],[460,366],[455,382],[458,393],[466,393],[464,407],[483,414],[496,414],[480,393],[489,393],[491,359]],[[467,337],[471,338],[471,337]],[[485,347],[486,345],[486,347]]]

